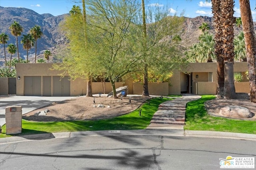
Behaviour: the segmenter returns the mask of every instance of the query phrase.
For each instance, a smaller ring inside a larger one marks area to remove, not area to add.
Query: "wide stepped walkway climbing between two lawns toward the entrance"
[[[184,129],[186,104],[200,98],[198,95],[182,94],[181,98],[160,104],[146,129]]]

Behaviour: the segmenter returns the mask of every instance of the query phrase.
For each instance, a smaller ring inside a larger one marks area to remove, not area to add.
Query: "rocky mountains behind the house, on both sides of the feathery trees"
[[[67,40],[65,36],[60,33],[58,25],[64,17],[68,14],[63,14],[60,16],[53,16],[52,14],[38,14],[33,10],[26,8],[12,8],[12,7],[1,7],[0,6],[0,33],[6,33],[9,35],[10,40],[6,46],[10,43],[16,44],[16,37],[11,35],[9,27],[14,21],[18,21],[20,25],[24,28],[23,34],[29,33],[30,28],[35,25],[40,25],[43,36],[38,39],[37,42],[37,58],[43,57],[44,50],[50,50],[53,55],[55,53],[56,47],[65,47]],[[182,29],[182,42],[181,46],[189,48],[192,44],[198,41],[198,37],[202,34],[202,31],[198,29],[202,23],[208,23],[210,26],[210,32],[214,33],[213,29],[213,18],[207,16],[198,16],[196,18],[185,18],[183,29]],[[238,27],[235,26],[235,35],[238,34]],[[20,43],[21,37],[18,37],[19,43],[19,53],[23,59],[26,59],[26,50],[23,49]],[[0,44],[0,66],[3,65],[4,61],[4,45]],[[32,48],[29,52],[30,62],[34,61],[35,48]],[[7,57],[9,54],[7,53]],[[16,57],[16,54],[14,55]]]

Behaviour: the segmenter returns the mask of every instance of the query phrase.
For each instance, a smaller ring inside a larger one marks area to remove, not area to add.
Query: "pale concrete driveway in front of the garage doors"
[[[76,98],[75,96],[60,96],[60,97],[47,97],[47,96],[8,96],[0,98],[0,126],[5,122],[5,108],[7,106],[22,106],[22,115],[47,106],[53,102],[60,102]]]

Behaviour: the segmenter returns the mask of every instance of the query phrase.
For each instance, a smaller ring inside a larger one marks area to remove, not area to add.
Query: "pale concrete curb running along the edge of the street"
[[[74,137],[97,137],[97,136],[180,136],[180,137],[205,137],[222,139],[240,139],[256,141],[256,135],[245,133],[230,133],[218,131],[184,131],[164,129],[142,130],[109,130],[109,131],[78,131],[61,133],[43,133],[36,135],[24,135],[19,137],[6,137],[0,139],[0,145],[7,143],[26,142],[31,140],[74,138]]]

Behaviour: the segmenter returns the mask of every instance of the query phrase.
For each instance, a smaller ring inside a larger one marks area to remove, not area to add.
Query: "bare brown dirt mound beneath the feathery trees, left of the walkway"
[[[95,99],[95,103],[93,102]],[[22,116],[22,119],[30,121],[70,121],[70,120],[94,120],[116,117],[126,113],[130,113],[137,109],[149,97],[124,97],[122,100],[107,98],[107,97],[77,97],[70,100],[65,100],[58,103],[53,103],[50,106],[36,109]],[[105,107],[94,107],[99,104]],[[110,106],[108,108],[107,106]],[[35,116],[34,114],[48,109],[50,112],[44,116]]]

